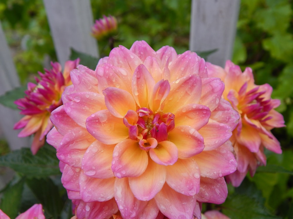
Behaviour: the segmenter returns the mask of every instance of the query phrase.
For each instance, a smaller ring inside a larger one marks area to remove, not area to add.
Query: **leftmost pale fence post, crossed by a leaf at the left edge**
[[[0,22],[0,95],[18,86],[20,86],[18,75]],[[6,138],[10,149],[30,147],[29,138],[18,138],[20,130],[13,130],[14,124],[22,117],[19,112],[0,105],[0,114],[0,132]]]

